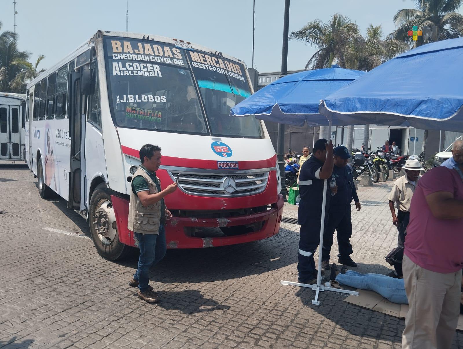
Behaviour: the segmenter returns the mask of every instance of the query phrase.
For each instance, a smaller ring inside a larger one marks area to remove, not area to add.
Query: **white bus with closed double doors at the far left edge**
[[[0,92],[0,160],[24,160],[26,95]]]

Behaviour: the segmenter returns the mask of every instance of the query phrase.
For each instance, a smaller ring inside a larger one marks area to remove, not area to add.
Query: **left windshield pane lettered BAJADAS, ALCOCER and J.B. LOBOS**
[[[155,41],[106,38],[108,95],[116,125],[208,133],[183,50]]]

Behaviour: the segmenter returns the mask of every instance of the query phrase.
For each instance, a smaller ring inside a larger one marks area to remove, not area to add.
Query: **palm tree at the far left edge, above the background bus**
[[[19,65],[13,65],[13,62],[27,60],[31,55],[28,51],[19,51],[17,39],[18,35],[13,32],[0,33],[0,92],[10,91],[10,82],[21,70]]]

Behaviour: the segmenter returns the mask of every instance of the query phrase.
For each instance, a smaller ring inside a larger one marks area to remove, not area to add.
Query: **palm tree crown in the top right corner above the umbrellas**
[[[398,28],[389,34],[390,39],[407,41],[417,47],[463,36],[463,15],[456,12],[463,0],[415,0],[415,4],[417,8],[404,8],[395,14],[394,24]],[[422,31],[416,41],[408,35],[413,26]]]

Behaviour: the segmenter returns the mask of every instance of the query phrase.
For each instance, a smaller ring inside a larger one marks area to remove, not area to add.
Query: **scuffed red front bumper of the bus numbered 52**
[[[125,245],[135,246],[133,232],[127,228],[129,215],[129,201],[111,195],[114,212],[116,214],[119,240]],[[275,235],[280,230],[280,222],[283,214],[283,196],[278,195],[278,201],[271,205],[271,209],[244,215],[240,217],[228,218],[192,218],[192,217],[173,217],[166,222],[166,239],[168,248],[201,248],[213,246],[225,246],[241,244],[244,242],[257,241]],[[217,237],[196,237],[188,233],[194,228],[220,228],[233,226],[249,226],[262,223],[262,227],[254,232],[235,236]]]

